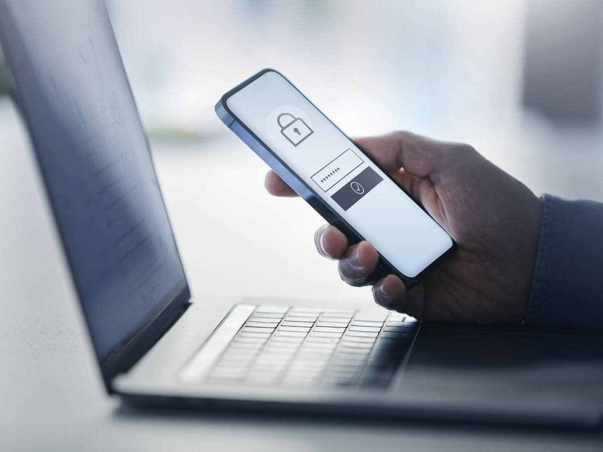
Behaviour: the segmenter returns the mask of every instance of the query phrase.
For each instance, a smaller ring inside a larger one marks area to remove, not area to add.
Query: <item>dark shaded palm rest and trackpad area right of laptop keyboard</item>
[[[603,336],[424,324],[397,390],[439,406],[598,416]]]

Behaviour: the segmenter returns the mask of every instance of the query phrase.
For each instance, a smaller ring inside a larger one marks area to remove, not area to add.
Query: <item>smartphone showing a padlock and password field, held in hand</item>
[[[379,263],[371,278],[393,273],[410,289],[455,247],[387,172],[279,72],[258,72],[215,108],[350,244],[373,244]]]

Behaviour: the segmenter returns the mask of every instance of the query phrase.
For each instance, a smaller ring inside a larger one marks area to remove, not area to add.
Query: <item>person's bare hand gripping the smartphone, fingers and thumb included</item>
[[[396,275],[367,278],[379,256],[366,242],[348,246],[332,225],[315,234],[318,252],[339,260],[352,286],[373,285],[377,304],[418,319],[446,322],[521,322],[538,247],[542,201],[528,187],[471,146],[409,132],[357,139],[458,244],[453,256],[411,290]],[[273,171],[265,186],[295,196]]]

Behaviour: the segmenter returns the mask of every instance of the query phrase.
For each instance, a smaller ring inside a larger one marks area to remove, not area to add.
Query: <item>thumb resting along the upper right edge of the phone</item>
[[[444,159],[451,145],[407,131],[359,138],[355,142],[386,171],[395,173],[403,168],[418,177],[426,177],[444,169]]]

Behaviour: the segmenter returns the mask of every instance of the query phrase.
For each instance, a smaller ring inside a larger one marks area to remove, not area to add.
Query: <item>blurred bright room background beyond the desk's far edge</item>
[[[599,0],[108,7],[151,139],[226,135],[219,96],[274,67],[351,136],[469,142],[537,193],[602,199]]]

